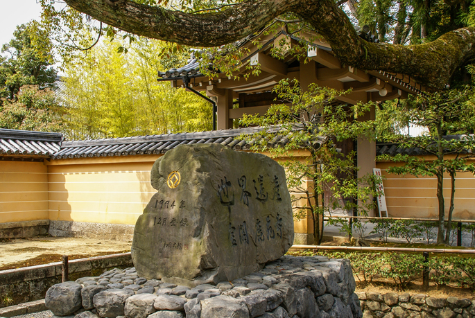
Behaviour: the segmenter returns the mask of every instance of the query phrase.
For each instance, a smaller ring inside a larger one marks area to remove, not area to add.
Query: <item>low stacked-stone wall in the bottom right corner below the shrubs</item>
[[[356,292],[363,318],[475,318],[475,301],[425,294]]]

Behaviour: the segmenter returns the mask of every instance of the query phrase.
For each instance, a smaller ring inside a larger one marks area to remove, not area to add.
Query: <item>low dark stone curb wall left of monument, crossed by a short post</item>
[[[69,261],[70,279],[93,276],[113,267],[131,267],[129,253],[97,256]],[[0,308],[43,299],[46,290],[61,282],[62,263],[50,263],[0,271]],[[12,301],[5,303],[5,299]]]

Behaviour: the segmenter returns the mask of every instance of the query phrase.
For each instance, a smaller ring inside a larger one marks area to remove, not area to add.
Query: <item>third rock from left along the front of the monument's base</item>
[[[94,307],[101,317],[115,318],[123,316],[126,300],[133,294],[133,290],[104,290],[94,295]]]

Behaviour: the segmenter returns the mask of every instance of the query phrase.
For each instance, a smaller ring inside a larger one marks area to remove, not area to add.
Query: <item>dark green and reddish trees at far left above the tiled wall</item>
[[[56,70],[51,42],[37,24],[17,26],[0,57],[0,127],[17,130],[60,130],[55,97]]]

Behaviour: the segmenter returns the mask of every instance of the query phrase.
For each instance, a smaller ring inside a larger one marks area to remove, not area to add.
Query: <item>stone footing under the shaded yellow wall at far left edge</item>
[[[0,238],[33,238],[48,229],[49,220],[0,223]]]

